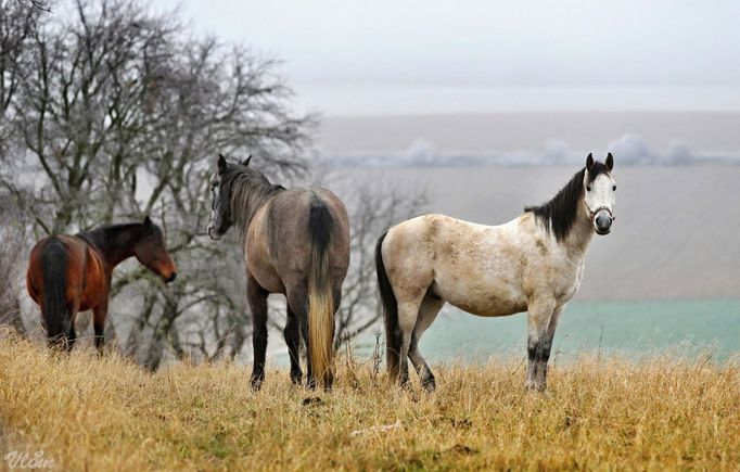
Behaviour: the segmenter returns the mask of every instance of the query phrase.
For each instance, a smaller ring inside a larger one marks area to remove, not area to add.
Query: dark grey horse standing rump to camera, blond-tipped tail
[[[251,384],[265,380],[267,296],[288,299],[283,334],[291,359],[291,380],[301,384],[301,337],[306,344],[307,385],[333,382],[334,314],[349,266],[349,221],[344,204],[319,187],[285,189],[248,167],[250,160],[228,164],[218,158],[210,190],[208,235],[219,240],[235,226],[246,264],[246,297],[252,309],[254,369]]]

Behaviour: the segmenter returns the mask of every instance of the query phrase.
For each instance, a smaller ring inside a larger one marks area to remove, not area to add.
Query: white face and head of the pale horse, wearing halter
[[[584,203],[597,234],[609,234],[614,222],[614,202],[616,201],[616,180],[612,176],[614,157],[609,153],[607,161],[594,161],[588,154],[584,174]]]

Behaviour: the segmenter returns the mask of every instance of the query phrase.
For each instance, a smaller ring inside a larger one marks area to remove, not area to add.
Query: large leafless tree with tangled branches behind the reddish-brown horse
[[[0,156],[0,182],[37,235],[150,214],[188,277],[165,288],[125,264],[106,333],[153,369],[168,348],[186,356],[199,343],[208,358],[229,346],[233,356],[248,314],[243,290],[230,286],[243,280],[238,245],[212,244],[203,231],[213,160],[254,153],[269,175],[301,176],[314,118],[290,111],[271,58],[193,39],[138,2],[75,5],[64,23],[30,28],[13,56],[0,136],[17,137],[23,152]]]

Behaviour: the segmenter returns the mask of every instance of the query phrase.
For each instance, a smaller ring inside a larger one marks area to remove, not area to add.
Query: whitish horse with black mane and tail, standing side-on
[[[558,318],[584,277],[594,232],[608,234],[616,183],[611,153],[541,206],[500,226],[424,215],[387,230],[375,263],[385,318],[387,368],[401,385],[411,359],[422,387],[435,388],[419,341],[445,302],[485,317],[527,311],[527,390],[544,391]]]

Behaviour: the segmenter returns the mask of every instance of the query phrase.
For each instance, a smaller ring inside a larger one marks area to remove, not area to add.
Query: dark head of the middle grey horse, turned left
[[[224,155],[218,155],[218,171],[210,180],[210,218],[208,218],[208,235],[216,241],[231,228],[234,221],[231,201],[233,200],[233,182],[237,175],[246,178],[264,178],[261,174],[248,168],[252,156],[239,164],[228,164]]]

